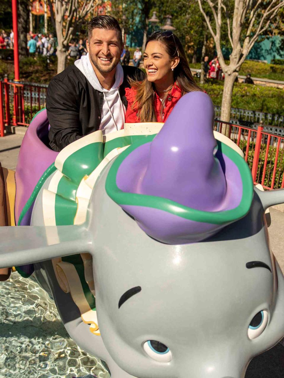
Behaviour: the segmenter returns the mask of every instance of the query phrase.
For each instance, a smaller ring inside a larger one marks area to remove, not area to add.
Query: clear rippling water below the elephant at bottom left
[[[69,337],[54,301],[32,279],[0,282],[1,378],[109,378]]]

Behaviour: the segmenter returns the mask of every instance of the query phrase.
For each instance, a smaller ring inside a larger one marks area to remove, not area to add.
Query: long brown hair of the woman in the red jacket
[[[170,59],[176,56],[180,58],[179,64],[173,71],[173,78],[175,83],[181,88],[182,95],[192,91],[203,91],[193,79],[183,46],[175,34],[171,31],[158,31],[147,39],[146,46],[151,41],[162,43]],[[137,109],[137,116],[140,122],[157,122],[154,108],[154,83],[148,81],[146,77],[142,82],[129,78],[129,84],[137,91],[132,109]]]

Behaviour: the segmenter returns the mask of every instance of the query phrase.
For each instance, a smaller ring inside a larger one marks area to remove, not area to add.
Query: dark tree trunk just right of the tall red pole
[[[18,44],[19,57],[28,56],[27,33],[29,25],[29,2],[27,0],[18,1]]]

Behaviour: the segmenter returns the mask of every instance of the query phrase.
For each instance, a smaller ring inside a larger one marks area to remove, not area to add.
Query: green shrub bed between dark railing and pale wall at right
[[[209,81],[202,87],[212,98],[213,104],[221,105],[223,86],[223,81],[215,80]],[[233,88],[232,107],[283,115],[284,91],[273,87],[235,83]]]

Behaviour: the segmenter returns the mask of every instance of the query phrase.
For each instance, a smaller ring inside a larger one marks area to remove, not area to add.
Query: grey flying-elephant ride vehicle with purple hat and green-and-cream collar
[[[56,153],[43,110],[23,140],[0,266],[34,271],[112,378],[244,378],[284,335],[264,214],[284,190],[254,187],[213,119],[192,92],[164,125],[97,131]]]

